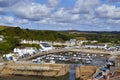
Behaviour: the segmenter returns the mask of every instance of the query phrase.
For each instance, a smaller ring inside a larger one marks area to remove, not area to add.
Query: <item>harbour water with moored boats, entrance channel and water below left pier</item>
[[[63,57],[62,57],[63,56]],[[79,59],[80,58],[80,59]],[[76,67],[81,65],[93,65],[93,66],[100,66],[106,62],[106,56],[102,55],[91,55],[91,54],[84,54],[84,53],[72,53],[72,54],[65,54],[61,53],[60,55],[43,55],[36,59],[41,59],[44,61],[54,60],[58,64],[70,64],[70,74],[61,76],[61,77],[40,77],[40,76],[7,76],[7,77],[0,77],[0,80],[75,80],[76,79]],[[86,61],[91,61],[91,63],[85,63]],[[92,60],[91,60],[92,59]]]

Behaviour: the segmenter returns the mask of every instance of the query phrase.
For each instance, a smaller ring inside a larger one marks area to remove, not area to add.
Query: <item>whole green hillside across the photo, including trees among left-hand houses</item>
[[[17,46],[32,46],[39,48],[39,45],[21,45],[20,39],[44,40],[44,41],[66,41],[97,40],[99,43],[113,43],[120,45],[120,32],[97,32],[97,31],[51,31],[51,30],[30,30],[20,27],[0,26],[0,35],[4,41],[0,42],[0,53],[11,52]]]

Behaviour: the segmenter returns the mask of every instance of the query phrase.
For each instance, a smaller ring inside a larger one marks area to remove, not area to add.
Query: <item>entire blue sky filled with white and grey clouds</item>
[[[0,25],[120,31],[120,0],[0,0]]]

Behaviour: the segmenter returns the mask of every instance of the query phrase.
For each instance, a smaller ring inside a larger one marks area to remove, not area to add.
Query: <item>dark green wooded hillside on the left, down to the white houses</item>
[[[4,41],[0,42],[0,53],[5,54],[12,52],[17,46],[37,47],[35,45],[22,45],[20,39],[26,40],[44,40],[44,41],[65,41],[71,37],[67,34],[50,30],[29,30],[21,29],[20,27],[0,26],[0,35],[4,36]]]

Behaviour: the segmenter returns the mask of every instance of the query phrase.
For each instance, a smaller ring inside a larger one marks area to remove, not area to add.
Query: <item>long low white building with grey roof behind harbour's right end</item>
[[[89,49],[107,49],[107,44],[93,44],[93,45],[85,45],[85,48]]]

